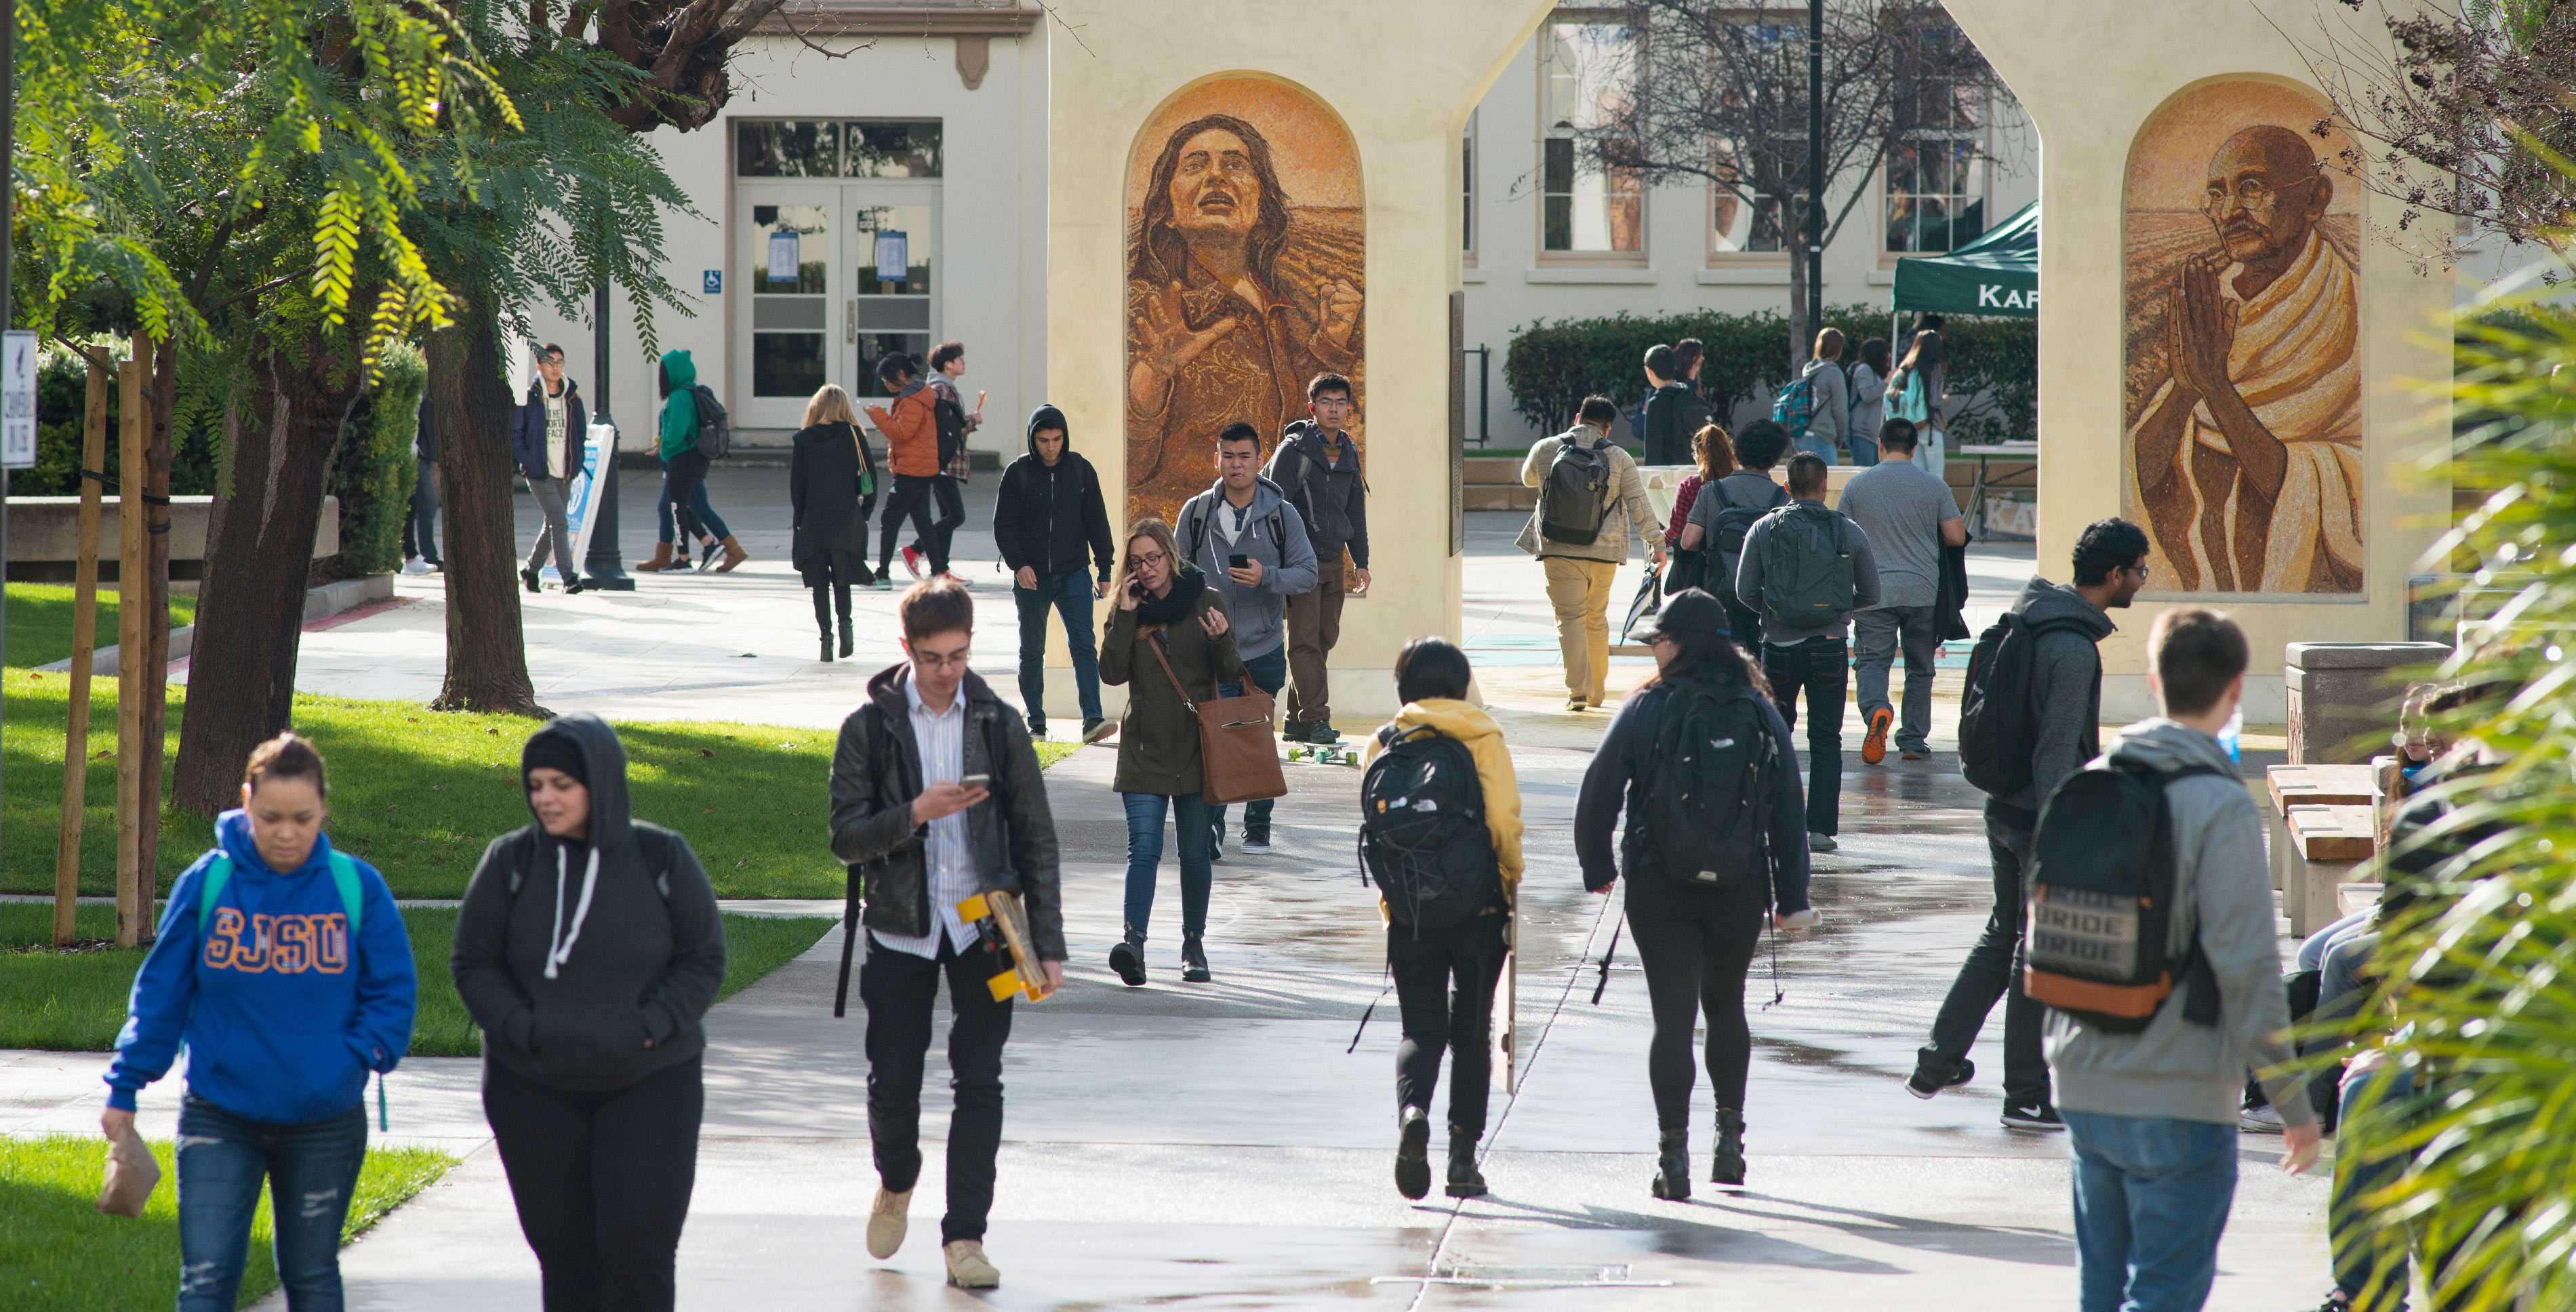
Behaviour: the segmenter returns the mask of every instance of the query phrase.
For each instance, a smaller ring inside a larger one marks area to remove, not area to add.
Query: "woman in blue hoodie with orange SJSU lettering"
[[[327,791],[312,742],[278,735],[250,753],[242,809],[214,820],[214,851],[170,887],[116,1036],[98,1119],[108,1139],[134,1126],[134,1093],[188,1049],[180,1312],[232,1312],[263,1181],[278,1199],[286,1307],[340,1309],[366,1075],[412,1047],[415,995],[392,889],[322,835]]]

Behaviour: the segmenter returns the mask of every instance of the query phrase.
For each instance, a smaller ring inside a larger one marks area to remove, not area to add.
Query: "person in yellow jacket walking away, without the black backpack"
[[[1386,967],[1396,979],[1404,1041],[1396,1044],[1396,1188],[1406,1199],[1430,1193],[1430,1101],[1440,1083],[1440,1052],[1450,1054],[1450,1162],[1448,1196],[1484,1193],[1476,1139],[1484,1137],[1486,1088],[1494,1083],[1489,1036],[1494,982],[1510,951],[1512,897],[1520,887],[1520,781],[1502,727],[1466,701],[1466,652],[1437,637],[1417,637],[1396,657],[1396,711],[1368,742],[1373,763],[1391,742],[1432,729],[1466,745],[1484,791],[1484,827],[1494,843],[1499,889],[1492,905],[1461,923],[1406,925],[1378,897],[1386,923]],[[1450,992],[1455,982],[1455,998]]]

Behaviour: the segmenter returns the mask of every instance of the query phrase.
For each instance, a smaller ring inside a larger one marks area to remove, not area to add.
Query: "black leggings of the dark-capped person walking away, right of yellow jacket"
[[[1744,1075],[1752,1070],[1754,1036],[1744,1023],[1744,972],[1762,943],[1762,918],[1770,894],[1759,882],[1736,889],[1641,889],[1628,882],[1628,938],[1646,967],[1646,998],[1654,1003],[1654,1047],[1646,1049],[1646,1080],[1654,1085],[1659,1129],[1690,1126],[1690,1031],[1708,1016],[1708,1085],[1718,1106],[1744,1108]]]

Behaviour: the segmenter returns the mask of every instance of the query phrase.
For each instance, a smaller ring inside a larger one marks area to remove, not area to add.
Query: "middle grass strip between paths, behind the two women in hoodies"
[[[726,915],[724,990],[732,998],[762,974],[788,964],[814,946],[835,918]],[[420,1018],[412,1023],[412,1057],[477,1057],[482,1036],[448,979],[448,943],[456,941],[456,912],[446,907],[407,907],[402,928],[412,936],[412,969],[420,974]],[[82,938],[113,938],[116,907],[82,905],[75,923]],[[54,907],[44,902],[0,902],[0,1049],[33,1047],[54,1052],[108,1052],[126,1023],[126,995],[144,949],[28,951],[54,936]],[[0,1289],[8,1289],[0,1284]],[[0,1299],[5,1304],[8,1299]]]

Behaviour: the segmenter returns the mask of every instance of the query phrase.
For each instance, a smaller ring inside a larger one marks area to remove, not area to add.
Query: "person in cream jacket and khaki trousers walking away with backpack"
[[[1610,580],[1628,559],[1628,534],[1646,559],[1664,564],[1664,534],[1646,503],[1636,459],[1610,441],[1618,407],[1584,397],[1577,425],[1543,438],[1520,461],[1520,485],[1538,487],[1538,508],[1517,546],[1546,570],[1556,611],[1556,650],[1566,662],[1566,709],[1610,701]]]

